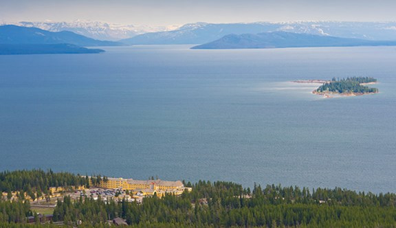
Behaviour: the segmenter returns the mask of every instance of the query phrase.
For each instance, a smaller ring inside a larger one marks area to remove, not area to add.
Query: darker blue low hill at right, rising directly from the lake
[[[318,36],[290,32],[264,32],[260,34],[230,34],[216,41],[197,45],[192,49],[248,49],[279,47],[354,47],[396,45],[396,41],[368,41],[356,38]]]

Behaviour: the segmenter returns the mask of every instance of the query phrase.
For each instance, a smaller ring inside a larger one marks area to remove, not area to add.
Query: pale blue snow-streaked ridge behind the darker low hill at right
[[[294,32],[342,38],[396,41],[396,22],[303,21],[287,23],[192,23],[167,32],[153,32],[123,39],[129,45],[202,44],[228,34]]]

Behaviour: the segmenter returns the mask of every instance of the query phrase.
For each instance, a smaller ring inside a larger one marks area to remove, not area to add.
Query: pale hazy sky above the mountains
[[[396,21],[395,0],[0,0],[0,21]]]

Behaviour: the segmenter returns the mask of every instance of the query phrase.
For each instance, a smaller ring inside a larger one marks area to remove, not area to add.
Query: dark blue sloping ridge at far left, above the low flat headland
[[[122,45],[113,41],[98,41],[74,32],[48,32],[36,27],[21,27],[17,25],[0,26],[0,44],[4,45],[33,45],[33,44],[61,44],[68,43],[77,46],[115,46]]]

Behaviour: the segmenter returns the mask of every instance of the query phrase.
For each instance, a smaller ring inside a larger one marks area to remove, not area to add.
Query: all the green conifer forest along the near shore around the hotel
[[[125,198],[80,196],[67,191],[54,205],[51,220],[41,220],[30,201],[48,187],[69,187],[105,181],[100,175],[20,170],[0,173],[0,227],[112,227],[120,220],[131,227],[396,227],[396,194],[266,185],[243,187],[225,181],[183,181],[192,191],[181,196],[146,197],[142,203]],[[55,186],[54,186],[55,185]],[[18,198],[10,200],[12,192]],[[33,216],[33,223],[28,223]]]

